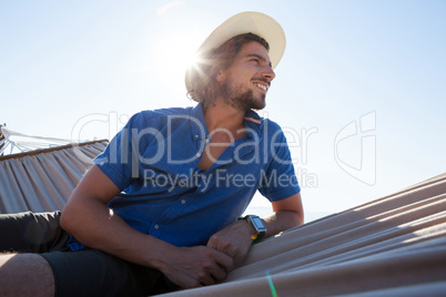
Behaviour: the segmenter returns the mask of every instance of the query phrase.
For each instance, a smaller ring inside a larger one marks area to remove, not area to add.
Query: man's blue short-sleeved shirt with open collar
[[[210,144],[201,104],[133,115],[94,160],[122,191],[109,207],[142,233],[193,246],[234,223],[257,190],[271,202],[298,193],[281,127],[253,111],[244,125],[246,135],[204,171],[196,167]]]

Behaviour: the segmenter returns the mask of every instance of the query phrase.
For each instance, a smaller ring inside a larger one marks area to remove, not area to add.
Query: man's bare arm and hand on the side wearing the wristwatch
[[[285,199],[273,202],[273,214],[262,218],[265,227],[265,237],[303,224],[304,211],[301,194],[297,193]],[[237,221],[211,236],[207,246],[225,253],[240,265],[251,248],[251,235],[254,229],[245,219]]]

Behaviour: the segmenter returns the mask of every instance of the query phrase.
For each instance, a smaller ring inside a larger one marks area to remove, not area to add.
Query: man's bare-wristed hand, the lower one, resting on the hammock
[[[160,270],[182,288],[214,285],[234,268],[231,257],[206,246],[175,247],[166,258]]]

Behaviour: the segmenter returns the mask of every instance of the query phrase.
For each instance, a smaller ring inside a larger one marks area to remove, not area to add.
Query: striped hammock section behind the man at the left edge
[[[60,211],[108,141],[0,157],[0,213]]]

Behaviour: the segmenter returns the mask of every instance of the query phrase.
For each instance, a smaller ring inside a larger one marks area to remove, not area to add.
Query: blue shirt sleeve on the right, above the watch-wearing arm
[[[287,198],[301,192],[286,137],[277,126],[275,132],[268,136],[272,160],[262,176],[259,192],[271,202]]]

